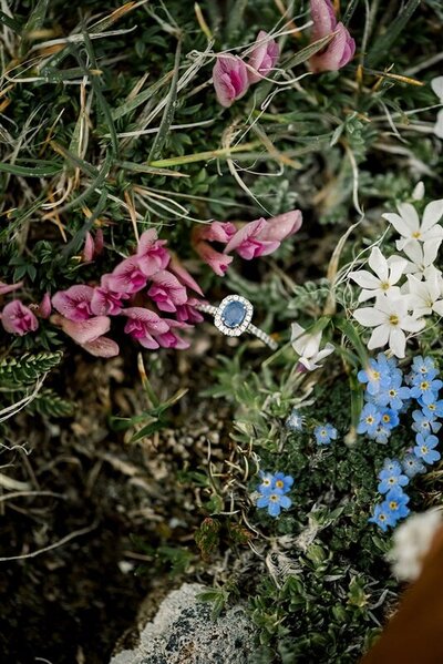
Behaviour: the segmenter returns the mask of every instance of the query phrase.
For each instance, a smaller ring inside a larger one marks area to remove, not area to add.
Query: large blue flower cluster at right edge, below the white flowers
[[[387,442],[391,429],[399,423],[399,413],[414,401],[420,406],[412,412],[415,447],[408,450],[402,460],[387,459],[378,476],[378,490],[384,500],[375,505],[369,521],[377,523],[384,532],[410,512],[409,497],[403,488],[416,474],[426,472],[426,463],[431,466],[441,458],[435,450],[439,439],[434,436],[442,427],[437,418],[443,417],[443,400],[439,399],[443,382],[436,378],[437,374],[432,358],[415,357],[411,372],[405,377],[408,387],[403,386],[403,376],[396,361],[385,358],[383,354],[379,354],[377,360],[371,360],[365,371],[359,372],[359,380],[367,382],[365,391],[369,395],[361,413],[359,433],[365,432],[379,442]],[[383,409],[394,413],[389,413],[391,422],[396,422],[391,428],[383,422]],[[371,417],[373,422],[369,421]]]

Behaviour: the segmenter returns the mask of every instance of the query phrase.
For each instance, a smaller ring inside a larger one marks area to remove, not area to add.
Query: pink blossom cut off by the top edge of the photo
[[[336,32],[329,44],[310,58],[310,68],[316,73],[337,71],[352,60],[356,52],[356,41],[343,23],[337,23],[331,0],[310,0],[310,10],[313,21],[311,42]]]

